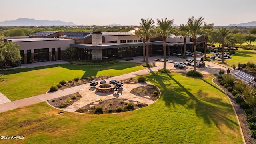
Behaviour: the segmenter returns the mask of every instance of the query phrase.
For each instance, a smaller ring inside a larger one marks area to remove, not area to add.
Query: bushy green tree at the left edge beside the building
[[[19,60],[21,60],[20,45],[0,40],[0,66],[9,66]]]

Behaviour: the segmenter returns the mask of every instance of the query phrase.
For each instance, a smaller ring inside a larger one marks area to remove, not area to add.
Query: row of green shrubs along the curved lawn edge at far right
[[[256,139],[256,118],[253,114],[254,112],[250,109],[250,105],[245,102],[244,98],[238,92],[242,92],[242,89],[246,86],[241,84],[241,82],[235,84],[234,77],[228,74],[225,74],[224,76],[219,75],[217,80],[220,85],[224,86],[228,90],[228,92],[231,92],[240,108],[244,109],[244,114],[246,114],[246,121],[249,123],[248,128],[251,130],[250,136]],[[237,88],[237,90],[234,90],[233,86]]]

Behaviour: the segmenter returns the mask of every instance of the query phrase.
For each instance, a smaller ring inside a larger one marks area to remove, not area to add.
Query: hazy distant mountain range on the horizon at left
[[[76,26],[73,22],[60,20],[35,20],[30,18],[18,18],[17,20],[6,20],[0,22],[0,26]]]

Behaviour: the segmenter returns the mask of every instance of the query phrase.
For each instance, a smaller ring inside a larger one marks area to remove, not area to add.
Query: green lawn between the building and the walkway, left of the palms
[[[101,66],[59,64],[1,71],[4,76],[0,77],[0,92],[14,101],[44,94],[50,86],[58,84],[61,80],[88,76],[118,76],[142,69],[144,67],[138,63],[119,62]]]

